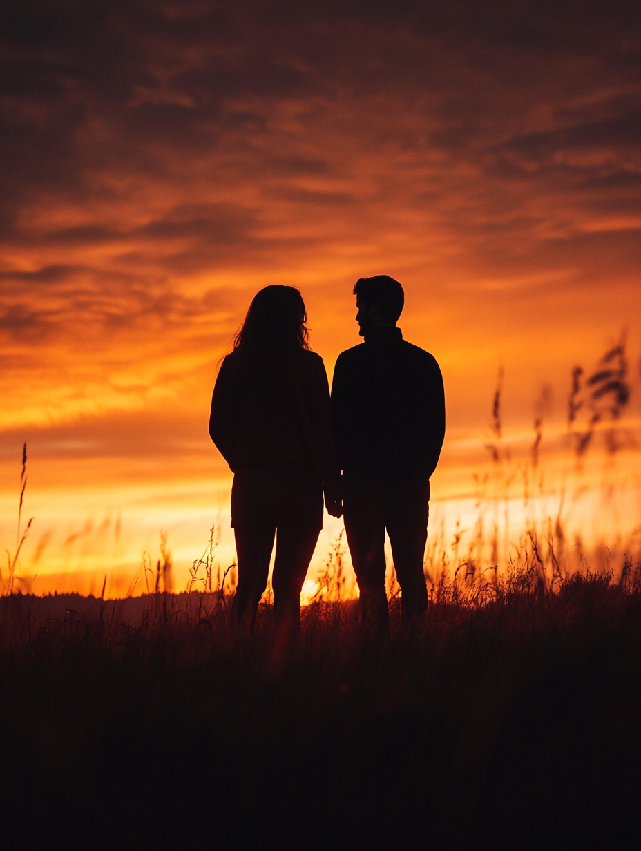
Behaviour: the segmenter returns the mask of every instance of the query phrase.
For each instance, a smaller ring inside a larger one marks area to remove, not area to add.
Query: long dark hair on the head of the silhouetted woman
[[[234,351],[242,360],[287,357],[309,349],[307,311],[295,287],[275,283],[255,294],[243,327],[236,334]]]

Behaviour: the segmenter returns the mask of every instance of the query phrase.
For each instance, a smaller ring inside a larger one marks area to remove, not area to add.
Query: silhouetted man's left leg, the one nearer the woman
[[[345,531],[358,580],[363,634],[380,640],[389,635],[385,592],[385,522],[380,500],[371,488],[346,488]]]

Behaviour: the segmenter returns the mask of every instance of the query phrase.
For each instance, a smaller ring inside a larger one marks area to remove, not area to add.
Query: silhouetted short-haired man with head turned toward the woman
[[[443,378],[427,351],[396,327],[403,288],[387,275],[354,286],[365,341],[336,361],[332,416],[343,471],[347,543],[363,631],[387,634],[385,530],[401,586],[403,630],[427,608],[423,558],[430,476],[445,433]]]

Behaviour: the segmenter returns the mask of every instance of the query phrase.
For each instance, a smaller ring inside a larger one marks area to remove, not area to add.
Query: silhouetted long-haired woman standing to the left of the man
[[[209,435],[234,474],[232,527],[238,587],[232,620],[253,631],[274,534],[274,619],[300,631],[300,590],[327,510],[341,517],[339,473],[323,360],[310,351],[300,292],[255,295],[214,388]]]

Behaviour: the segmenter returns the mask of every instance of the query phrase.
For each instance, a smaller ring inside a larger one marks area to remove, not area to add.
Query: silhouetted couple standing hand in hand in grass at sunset
[[[386,637],[385,531],[401,587],[403,630],[427,607],[423,559],[430,476],[444,439],[443,379],[432,355],[396,327],[403,288],[386,275],[353,290],[364,343],[335,366],[310,351],[294,287],[261,289],[220,367],[209,434],[234,473],[238,553],[234,625],[253,631],[274,536],[274,619],[281,641],[300,631],[300,591],[325,505],[345,516],[364,634]]]

